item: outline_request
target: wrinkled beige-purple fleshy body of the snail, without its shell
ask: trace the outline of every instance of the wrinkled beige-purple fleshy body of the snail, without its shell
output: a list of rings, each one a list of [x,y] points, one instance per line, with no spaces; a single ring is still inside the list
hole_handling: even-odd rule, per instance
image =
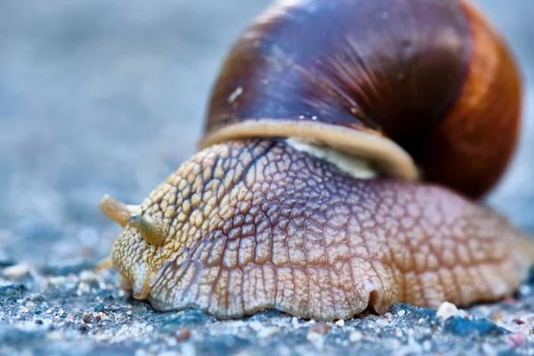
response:
[[[112,262],[161,311],[348,319],[494,300],[526,270],[498,214],[437,186],[354,178],[281,140],[201,150],[139,214],[166,226],[163,243],[126,223]]]

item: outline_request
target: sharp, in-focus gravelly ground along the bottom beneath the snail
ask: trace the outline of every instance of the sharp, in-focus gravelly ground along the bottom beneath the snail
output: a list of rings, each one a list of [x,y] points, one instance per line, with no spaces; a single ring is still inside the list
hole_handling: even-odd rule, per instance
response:
[[[216,320],[196,310],[155,312],[118,289],[114,271],[30,269],[0,279],[0,354],[530,355],[533,305],[534,285],[525,284],[513,298],[446,317],[401,303],[383,316],[328,323],[276,311]]]

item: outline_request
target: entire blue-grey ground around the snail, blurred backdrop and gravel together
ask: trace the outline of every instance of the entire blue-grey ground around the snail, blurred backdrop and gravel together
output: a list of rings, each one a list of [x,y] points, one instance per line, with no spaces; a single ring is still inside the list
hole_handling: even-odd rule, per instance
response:
[[[517,300],[469,310],[481,320],[443,321],[401,305],[328,328],[277,312],[224,322],[155,313],[122,295],[113,272],[87,271],[118,231],[97,208],[101,195],[138,203],[190,156],[224,53],[267,3],[2,4],[0,353],[533,352],[530,286]],[[525,76],[522,141],[488,203],[534,231],[534,2],[476,3],[504,31]],[[457,336],[470,328],[473,335]]]

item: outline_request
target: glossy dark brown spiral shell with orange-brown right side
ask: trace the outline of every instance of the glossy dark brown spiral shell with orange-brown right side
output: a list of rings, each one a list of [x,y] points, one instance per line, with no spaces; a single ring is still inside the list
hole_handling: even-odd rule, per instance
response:
[[[520,108],[512,54],[466,1],[281,1],[224,63],[202,147],[295,132],[280,124],[328,124],[390,138],[425,180],[479,198],[506,169]],[[318,132],[301,138],[340,139]],[[369,158],[391,168],[384,155]]]

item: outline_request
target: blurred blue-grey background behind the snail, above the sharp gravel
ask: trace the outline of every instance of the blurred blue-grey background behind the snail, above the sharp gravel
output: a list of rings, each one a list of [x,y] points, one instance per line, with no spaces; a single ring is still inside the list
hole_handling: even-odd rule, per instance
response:
[[[488,204],[534,231],[534,1],[478,0],[524,74]],[[189,158],[229,46],[269,0],[25,0],[0,11],[0,263],[109,253],[104,193],[139,203]]]

